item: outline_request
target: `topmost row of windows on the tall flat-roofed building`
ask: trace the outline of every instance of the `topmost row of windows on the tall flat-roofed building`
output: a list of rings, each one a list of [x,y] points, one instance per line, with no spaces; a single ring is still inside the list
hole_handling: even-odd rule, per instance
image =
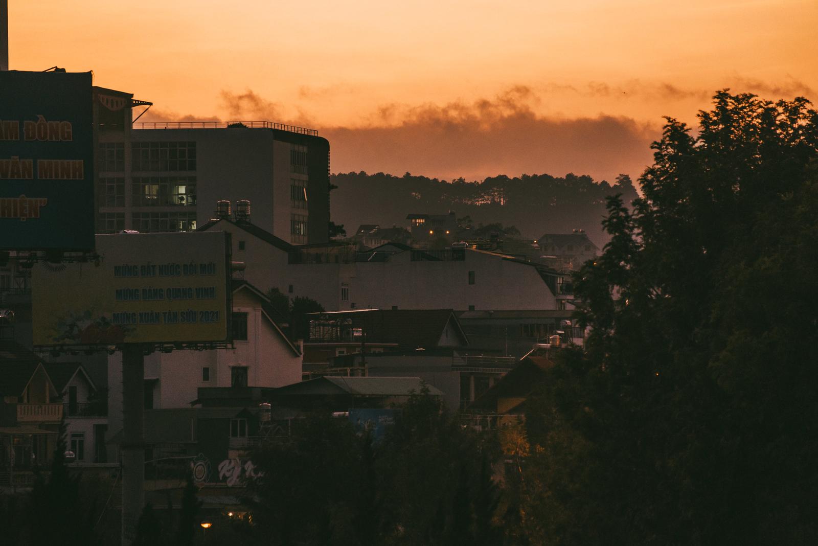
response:
[[[101,172],[125,170],[123,142],[101,142],[97,154]],[[195,171],[196,142],[132,142],[131,170],[133,171]]]

